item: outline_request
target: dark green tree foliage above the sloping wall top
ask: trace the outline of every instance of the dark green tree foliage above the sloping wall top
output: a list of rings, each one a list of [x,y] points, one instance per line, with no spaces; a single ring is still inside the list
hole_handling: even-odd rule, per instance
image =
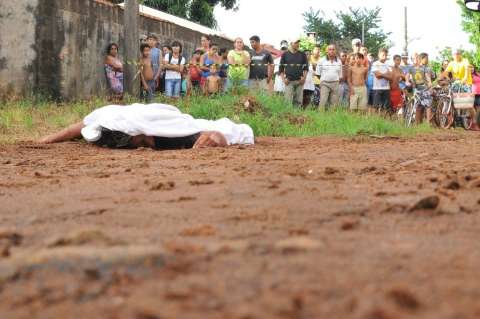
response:
[[[123,1],[113,0],[114,3]],[[210,28],[217,26],[213,13],[217,5],[227,10],[238,8],[237,0],[140,0],[140,3]]]

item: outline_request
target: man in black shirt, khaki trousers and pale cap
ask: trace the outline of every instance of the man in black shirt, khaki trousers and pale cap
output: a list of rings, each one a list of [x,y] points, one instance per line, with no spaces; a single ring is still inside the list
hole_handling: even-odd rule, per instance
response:
[[[299,48],[300,39],[293,40],[280,59],[279,69],[285,83],[285,99],[296,106],[303,104],[303,85],[308,72],[307,56]]]

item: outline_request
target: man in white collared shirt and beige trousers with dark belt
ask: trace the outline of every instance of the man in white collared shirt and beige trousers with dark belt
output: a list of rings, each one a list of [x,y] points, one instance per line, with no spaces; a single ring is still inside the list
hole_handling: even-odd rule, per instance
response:
[[[343,76],[342,63],[337,59],[337,48],[334,44],[327,47],[327,57],[317,65],[320,76],[320,108],[325,110],[327,102],[337,106],[339,100],[340,79]]]

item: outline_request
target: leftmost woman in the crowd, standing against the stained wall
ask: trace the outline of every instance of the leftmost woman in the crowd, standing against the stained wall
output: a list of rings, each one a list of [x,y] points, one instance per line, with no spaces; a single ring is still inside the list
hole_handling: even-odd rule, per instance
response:
[[[108,88],[111,98],[114,100],[123,99],[123,64],[118,59],[118,44],[110,43],[105,56],[105,76],[107,77]]]

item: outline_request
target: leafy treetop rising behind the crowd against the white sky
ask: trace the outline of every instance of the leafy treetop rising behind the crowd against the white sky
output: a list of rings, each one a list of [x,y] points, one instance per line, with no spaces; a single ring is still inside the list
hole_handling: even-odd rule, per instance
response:
[[[382,47],[391,47],[390,32],[381,29],[381,8],[352,8],[336,12],[336,19],[328,19],[321,10],[310,8],[303,14],[304,30],[316,32],[317,42],[322,46],[335,43],[343,49],[351,48],[351,41],[362,38],[362,22],[365,24],[365,45],[370,52],[376,53]]]

